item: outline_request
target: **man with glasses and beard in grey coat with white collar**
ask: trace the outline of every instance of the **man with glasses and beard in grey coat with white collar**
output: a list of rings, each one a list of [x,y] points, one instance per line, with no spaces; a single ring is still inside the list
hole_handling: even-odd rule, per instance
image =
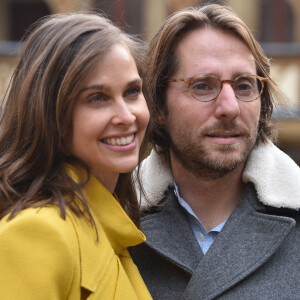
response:
[[[300,170],[272,140],[280,92],[228,8],[169,17],[150,43],[155,148],[140,168],[154,299],[300,299]]]

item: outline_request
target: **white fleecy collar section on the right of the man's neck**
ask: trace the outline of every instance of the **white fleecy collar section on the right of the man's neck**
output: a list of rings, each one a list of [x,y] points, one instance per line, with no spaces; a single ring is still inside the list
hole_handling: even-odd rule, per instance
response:
[[[271,142],[251,151],[243,181],[255,185],[259,201],[267,206],[300,209],[300,168]]]

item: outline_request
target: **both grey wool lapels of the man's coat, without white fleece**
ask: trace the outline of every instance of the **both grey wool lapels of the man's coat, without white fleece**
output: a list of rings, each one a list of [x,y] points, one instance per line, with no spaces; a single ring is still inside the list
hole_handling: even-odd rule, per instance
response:
[[[190,274],[182,299],[215,299],[270,260],[295,226],[292,218],[260,212],[264,206],[249,183],[204,256],[171,188],[164,203],[142,228],[148,246]]]

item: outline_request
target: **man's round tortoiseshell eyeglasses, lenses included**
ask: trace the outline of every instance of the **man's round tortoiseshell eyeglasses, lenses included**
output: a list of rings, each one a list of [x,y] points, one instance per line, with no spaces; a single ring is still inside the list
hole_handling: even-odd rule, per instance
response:
[[[221,93],[224,83],[229,83],[235,97],[244,102],[251,102],[260,97],[264,82],[268,78],[257,75],[240,75],[233,80],[220,80],[215,76],[199,75],[192,78],[169,79],[168,82],[187,82],[193,98],[202,102],[215,100]]]

